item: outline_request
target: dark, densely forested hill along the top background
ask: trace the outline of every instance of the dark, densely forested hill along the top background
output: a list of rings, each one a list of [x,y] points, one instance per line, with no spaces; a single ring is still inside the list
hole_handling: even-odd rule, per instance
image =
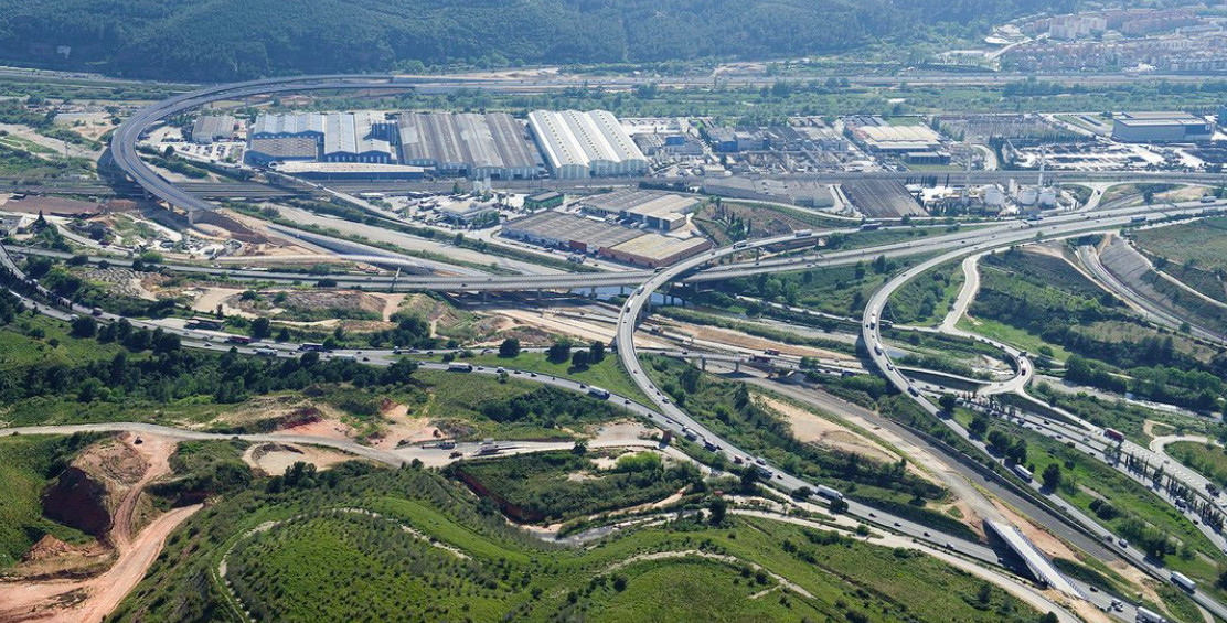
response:
[[[1075,0],[0,0],[0,63],[225,81],[480,65],[767,59]],[[61,47],[70,47],[65,59]]]

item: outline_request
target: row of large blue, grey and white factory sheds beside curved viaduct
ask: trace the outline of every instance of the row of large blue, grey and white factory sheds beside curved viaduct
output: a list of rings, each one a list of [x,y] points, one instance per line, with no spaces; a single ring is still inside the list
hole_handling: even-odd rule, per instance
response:
[[[234,125],[231,117],[229,128]],[[202,117],[193,139],[221,136],[223,118]],[[209,139],[206,139],[209,136]],[[229,136],[229,130],[225,134]],[[648,161],[611,113],[286,113],[261,114],[248,132],[247,161],[398,164],[437,177],[560,179],[642,175]],[[309,167],[297,167],[309,168]]]

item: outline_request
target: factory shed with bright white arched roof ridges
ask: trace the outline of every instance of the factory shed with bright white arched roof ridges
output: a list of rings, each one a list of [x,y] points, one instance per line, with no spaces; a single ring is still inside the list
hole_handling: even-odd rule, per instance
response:
[[[558,179],[642,175],[648,161],[617,118],[605,110],[536,110],[529,130]]]

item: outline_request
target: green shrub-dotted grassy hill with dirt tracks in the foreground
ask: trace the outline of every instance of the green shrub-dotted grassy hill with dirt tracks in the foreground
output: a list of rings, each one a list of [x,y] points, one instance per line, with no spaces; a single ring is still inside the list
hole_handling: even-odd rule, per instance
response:
[[[236,608],[313,622],[1039,619],[936,559],[764,519],[562,548],[418,470],[221,502],[171,536],[112,618],[239,621]]]

